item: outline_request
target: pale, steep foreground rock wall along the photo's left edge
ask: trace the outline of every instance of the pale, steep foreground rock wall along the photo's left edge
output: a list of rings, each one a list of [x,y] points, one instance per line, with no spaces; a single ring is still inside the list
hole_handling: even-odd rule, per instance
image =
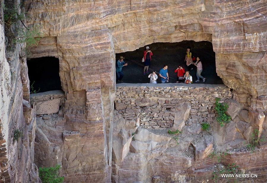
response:
[[[15,6],[19,3],[12,1]],[[0,1],[0,182],[39,182],[34,164],[35,110],[29,104],[29,80],[25,44],[13,43],[10,35],[21,23],[5,25]],[[20,8],[18,11],[21,11]],[[22,10],[23,11],[23,10]],[[8,35],[5,33],[9,33]],[[14,139],[15,130],[22,137]]]

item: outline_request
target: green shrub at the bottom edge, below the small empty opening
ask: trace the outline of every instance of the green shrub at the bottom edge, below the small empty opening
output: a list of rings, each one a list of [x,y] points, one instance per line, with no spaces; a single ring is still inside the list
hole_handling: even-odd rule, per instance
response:
[[[42,183],[62,183],[64,181],[64,177],[60,177],[58,175],[60,167],[60,165],[56,165],[55,167],[40,167],[39,177],[42,180]]]

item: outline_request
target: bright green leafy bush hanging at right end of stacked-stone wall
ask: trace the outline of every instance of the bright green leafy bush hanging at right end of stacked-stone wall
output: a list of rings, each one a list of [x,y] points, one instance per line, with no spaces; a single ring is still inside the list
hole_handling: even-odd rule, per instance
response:
[[[220,98],[216,98],[215,100],[216,100],[215,110],[218,113],[218,117],[216,119],[220,123],[220,126],[224,126],[224,124],[229,123],[229,120],[231,119],[230,116],[225,114],[229,106],[228,104],[225,103],[219,103]]]

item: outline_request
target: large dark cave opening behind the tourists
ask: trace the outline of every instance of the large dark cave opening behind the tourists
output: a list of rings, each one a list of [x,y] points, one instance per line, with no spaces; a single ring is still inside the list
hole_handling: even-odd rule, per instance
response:
[[[145,47],[149,46],[150,50],[153,52],[151,58],[148,73],[143,74],[144,62],[142,62],[143,53]],[[148,75],[153,71],[157,72],[158,79],[157,83],[161,83],[159,77],[159,70],[163,68],[163,65],[168,65],[169,83],[176,83],[177,73],[174,70],[177,69],[179,65],[188,71],[185,60],[185,54],[187,47],[190,46],[190,52],[193,53],[194,57],[200,57],[203,71],[201,76],[206,78],[205,84],[223,84],[222,79],[216,73],[215,65],[215,52],[213,51],[212,43],[209,41],[181,41],[176,43],[152,43],[145,45],[135,51],[117,53],[116,62],[119,60],[120,56],[125,57],[124,61],[128,63],[127,66],[123,67],[123,83],[149,83],[150,79]],[[194,61],[196,62],[196,60]],[[195,84],[197,80],[197,68],[192,65],[193,70],[190,70],[190,75],[193,78],[193,83]],[[117,83],[120,83],[118,81]],[[203,80],[200,79],[200,82]]]

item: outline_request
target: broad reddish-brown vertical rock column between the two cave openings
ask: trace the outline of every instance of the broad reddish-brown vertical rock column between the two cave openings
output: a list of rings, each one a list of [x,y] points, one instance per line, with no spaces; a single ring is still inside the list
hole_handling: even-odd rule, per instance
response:
[[[112,37],[108,29],[66,33],[57,37],[57,44],[66,93],[65,181],[110,181],[115,88]]]

